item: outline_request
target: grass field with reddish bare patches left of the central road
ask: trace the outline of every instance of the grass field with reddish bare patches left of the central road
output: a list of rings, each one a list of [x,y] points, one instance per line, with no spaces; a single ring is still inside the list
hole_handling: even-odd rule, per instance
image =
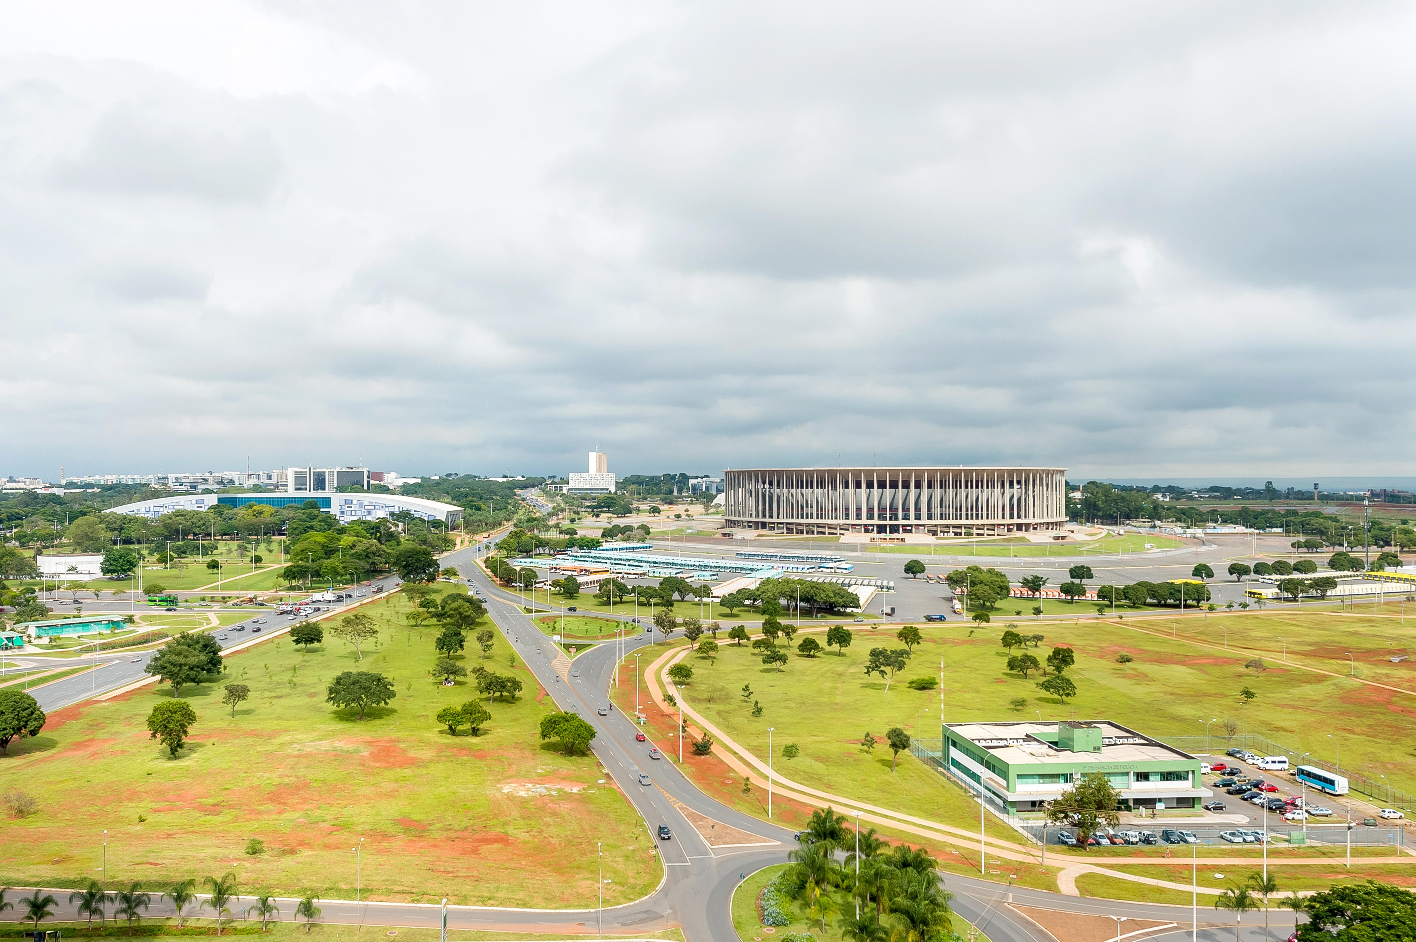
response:
[[[435,714],[476,693],[429,678],[438,627],[406,624],[408,603],[389,598],[362,608],[381,632],[361,663],[333,639],[232,655],[224,682],[251,686],[235,719],[219,686],[184,687],[198,721],[176,760],[144,728],[171,699],[166,686],[59,710],[38,737],[11,743],[0,791],[30,791],[40,805],[6,823],[0,884],[88,880],[106,829],[110,885],[235,868],[246,892],[351,898],[362,837],[362,891],[374,900],[590,905],[596,842],[613,880],[606,904],[650,891],[661,873],[653,839],[593,758],[539,741],[552,707],[500,634],[489,669],[518,676],[523,696],[491,704],[481,735],[453,738]],[[324,703],[329,682],[358,669],[388,675],[398,692],[364,721]],[[244,853],[251,839],[265,853]]]

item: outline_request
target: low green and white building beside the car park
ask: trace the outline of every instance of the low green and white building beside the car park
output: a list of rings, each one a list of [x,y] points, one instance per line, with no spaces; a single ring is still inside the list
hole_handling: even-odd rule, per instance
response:
[[[1100,772],[1123,809],[1195,808],[1199,760],[1107,720],[946,723],[944,768],[1008,815],[1039,810],[1075,781]]]

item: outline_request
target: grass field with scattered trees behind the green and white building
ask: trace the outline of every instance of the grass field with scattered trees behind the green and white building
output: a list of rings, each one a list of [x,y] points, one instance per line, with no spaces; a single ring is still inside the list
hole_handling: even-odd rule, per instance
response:
[[[756,652],[735,645],[722,645],[716,663],[691,658],[695,675],[688,702],[759,757],[767,750],[766,727],[775,726],[779,752],[789,743],[800,747],[799,758],[777,761],[789,778],[959,826],[969,826],[977,809],[961,792],[905,755],[899,771],[889,774],[888,752],[882,757],[882,748],[877,747],[875,755],[867,755],[860,748],[867,730],[884,740],[884,731],[895,726],[923,738],[939,738],[940,692],[916,692],[905,682],[939,676],[940,662],[946,721],[1075,716],[1109,719],[1150,735],[1197,735],[1205,731],[1205,720],[1235,719],[1242,730],[1311,750],[1320,758],[1335,758],[1340,740],[1344,768],[1382,774],[1396,788],[1416,789],[1416,752],[1391,748],[1392,723],[1416,716],[1416,697],[1344,676],[1297,670],[1267,656],[1279,648],[1276,635],[1281,634],[1289,642],[1290,662],[1331,669],[1337,662],[1334,652],[1341,656],[1340,652],[1351,651],[1369,676],[1416,690],[1416,665],[1383,661],[1393,642],[1406,646],[1405,639],[1392,636],[1398,634],[1395,620],[1245,612],[1211,617],[1208,622],[1175,621],[1178,634],[1204,631],[1206,641],[1221,631],[1218,622],[1225,621],[1235,644],[1243,638],[1253,646],[1226,653],[1184,636],[1170,638],[1165,636],[1170,620],[1124,627],[1086,621],[1044,624],[1038,628],[1046,635],[1037,651],[1039,661],[1052,645],[1076,652],[1069,676],[1079,693],[1063,704],[1037,689],[1037,675],[1024,680],[1007,672],[1008,652],[997,644],[1005,627],[1001,622],[983,629],[960,622],[920,627],[925,642],[888,692],[878,676],[865,676],[864,663],[869,648],[899,646],[899,642],[891,629],[858,628],[844,656],[833,651],[804,658],[793,651],[782,672],[763,668]],[[1020,624],[1020,629],[1027,631],[1027,625]],[[797,635],[797,644],[803,636]],[[1134,661],[1120,665],[1116,662],[1120,653]],[[1266,669],[1262,673],[1246,669],[1245,663],[1260,653]],[[743,683],[752,686],[753,699],[765,707],[760,719],[749,716],[752,702],[739,696]],[[1238,696],[1245,686],[1257,693],[1247,706]],[[1014,699],[1024,703],[1014,706]],[[1214,744],[1216,750],[1225,748],[1223,737],[1216,735]]]

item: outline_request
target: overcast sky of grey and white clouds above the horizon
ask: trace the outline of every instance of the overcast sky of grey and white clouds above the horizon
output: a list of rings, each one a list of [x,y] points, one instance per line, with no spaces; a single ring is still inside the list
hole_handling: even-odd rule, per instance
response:
[[[1416,8],[0,20],[0,474],[1409,472]]]

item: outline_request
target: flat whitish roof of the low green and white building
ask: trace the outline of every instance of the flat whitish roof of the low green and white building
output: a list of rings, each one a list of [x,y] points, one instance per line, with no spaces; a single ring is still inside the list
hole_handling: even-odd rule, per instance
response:
[[[1116,762],[1164,762],[1194,758],[1188,752],[1106,720],[1045,723],[1025,720],[1020,723],[946,723],[946,726],[1010,765],[1049,762],[1112,765]],[[1065,733],[1063,726],[1070,726],[1073,730],[1100,731],[1100,750],[1073,751],[1059,747],[1058,738]],[[1095,733],[1092,735],[1095,737]]]

